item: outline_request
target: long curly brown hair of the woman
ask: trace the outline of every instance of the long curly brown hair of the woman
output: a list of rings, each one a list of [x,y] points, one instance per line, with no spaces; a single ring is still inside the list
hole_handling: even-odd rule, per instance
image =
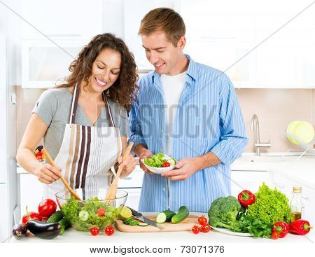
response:
[[[71,74],[66,78],[67,83],[57,85],[56,88],[70,88],[76,84],[81,85],[83,82],[84,89],[92,73],[92,64],[104,49],[115,50],[121,55],[120,74],[115,83],[105,90],[106,96],[130,112],[139,90],[137,65],[134,55],[127,48],[125,42],[110,33],[94,36],[90,43],[83,47],[76,60],[70,64]]]

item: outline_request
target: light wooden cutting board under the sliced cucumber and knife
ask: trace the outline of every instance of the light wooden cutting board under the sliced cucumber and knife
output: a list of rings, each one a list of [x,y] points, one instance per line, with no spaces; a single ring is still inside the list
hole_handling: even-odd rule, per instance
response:
[[[146,218],[150,218],[155,221],[156,215],[145,215]],[[125,225],[123,221],[116,221],[116,228],[121,232],[176,232],[176,231],[190,231],[194,225],[198,225],[198,217],[195,215],[189,215],[181,223],[173,224],[171,222],[161,223],[164,229],[155,228],[152,225],[141,227],[139,225]]]

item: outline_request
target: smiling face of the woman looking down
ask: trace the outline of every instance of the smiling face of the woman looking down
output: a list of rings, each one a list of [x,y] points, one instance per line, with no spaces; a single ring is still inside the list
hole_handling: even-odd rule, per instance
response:
[[[92,64],[89,88],[94,92],[103,92],[111,87],[120,73],[121,55],[119,52],[106,48],[97,55]]]

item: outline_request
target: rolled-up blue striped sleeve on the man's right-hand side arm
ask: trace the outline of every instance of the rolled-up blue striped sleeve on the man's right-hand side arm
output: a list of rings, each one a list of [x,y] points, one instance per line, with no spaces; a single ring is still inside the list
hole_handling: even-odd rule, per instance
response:
[[[241,157],[247,143],[246,127],[232,82],[226,76],[220,100],[220,141],[211,151],[223,165]]]

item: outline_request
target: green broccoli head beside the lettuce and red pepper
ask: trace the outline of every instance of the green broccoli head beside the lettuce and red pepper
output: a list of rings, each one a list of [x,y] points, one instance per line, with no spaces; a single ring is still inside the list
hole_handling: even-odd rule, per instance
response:
[[[240,209],[241,204],[234,196],[220,197],[212,202],[208,211],[209,224],[237,231],[239,223],[236,218]]]

